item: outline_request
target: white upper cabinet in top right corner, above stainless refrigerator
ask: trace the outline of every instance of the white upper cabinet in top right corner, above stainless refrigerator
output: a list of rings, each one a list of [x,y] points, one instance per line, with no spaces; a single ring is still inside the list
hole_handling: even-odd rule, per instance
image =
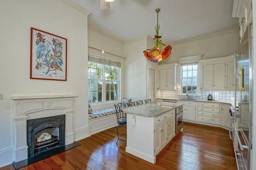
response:
[[[234,0],[232,17],[239,18],[241,42],[246,27],[252,22],[252,0]]]

